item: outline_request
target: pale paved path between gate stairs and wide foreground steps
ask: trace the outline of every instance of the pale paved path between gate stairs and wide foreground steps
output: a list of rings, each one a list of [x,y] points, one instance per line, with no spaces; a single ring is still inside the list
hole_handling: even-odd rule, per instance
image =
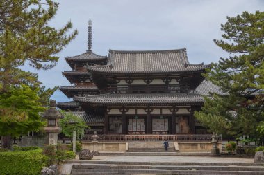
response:
[[[92,160],[122,162],[254,163],[253,158],[211,156],[94,156]]]

